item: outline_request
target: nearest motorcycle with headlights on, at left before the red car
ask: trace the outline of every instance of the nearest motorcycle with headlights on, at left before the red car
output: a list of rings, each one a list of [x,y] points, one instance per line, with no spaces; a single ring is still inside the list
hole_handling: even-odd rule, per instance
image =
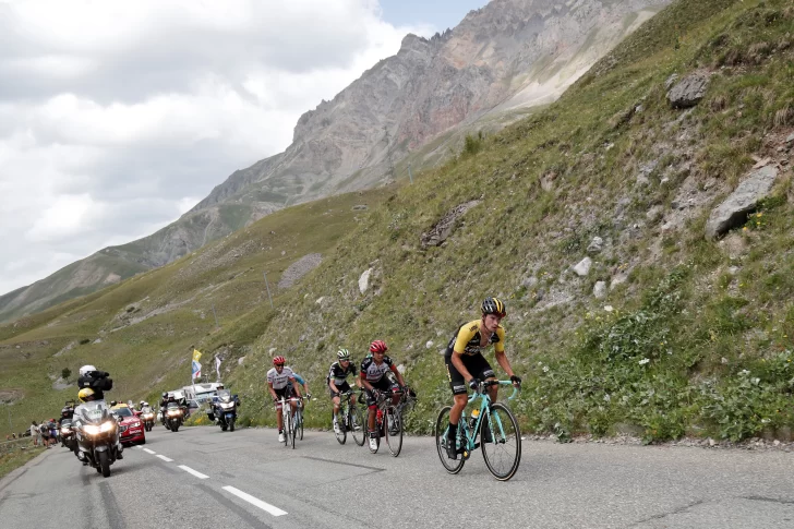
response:
[[[110,466],[116,462],[119,425],[116,417],[104,405],[84,405],[77,420],[77,450],[83,458],[105,478],[110,477]]]

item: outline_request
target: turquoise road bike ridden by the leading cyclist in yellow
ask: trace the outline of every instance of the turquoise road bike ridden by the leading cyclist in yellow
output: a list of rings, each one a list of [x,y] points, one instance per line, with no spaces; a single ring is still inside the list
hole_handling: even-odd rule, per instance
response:
[[[515,476],[521,462],[521,432],[518,429],[513,412],[502,402],[491,402],[486,389],[491,386],[508,386],[510,381],[481,382],[477,390],[469,397],[469,402],[480,399],[479,408],[474,408],[471,418],[466,412],[458,421],[458,435],[456,438],[457,459],[447,457],[446,447],[449,440],[449,411],[452,406],[445,406],[438,412],[435,421],[435,446],[438,450],[441,464],[449,473],[458,473],[464,468],[471,453],[482,448],[482,457],[491,473],[500,481],[507,481]],[[518,387],[513,388],[513,400],[518,395]],[[479,442],[478,442],[479,436]]]

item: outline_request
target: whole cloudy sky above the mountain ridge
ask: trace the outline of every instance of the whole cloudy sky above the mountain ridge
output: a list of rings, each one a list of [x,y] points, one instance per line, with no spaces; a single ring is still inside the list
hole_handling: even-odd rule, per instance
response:
[[[0,0],[0,293],[177,219],[486,0]]]

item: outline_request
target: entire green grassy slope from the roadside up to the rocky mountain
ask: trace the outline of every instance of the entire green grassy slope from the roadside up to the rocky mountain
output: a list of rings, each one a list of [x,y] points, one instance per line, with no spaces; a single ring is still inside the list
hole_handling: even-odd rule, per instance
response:
[[[420,394],[409,425],[429,432],[450,400],[438,352],[495,294],[507,300],[508,356],[525,378],[514,409],[526,429],[561,440],[621,431],[647,441],[790,436],[793,25],[792,0],[676,1],[557,103],[500,134],[472,137],[413,185],[382,191],[382,205],[358,224],[348,219],[333,241],[317,235],[328,226],[301,209],[310,206],[280,212],[277,232],[291,230],[296,243],[325,241],[329,252],[275,311],[261,302],[254,262],[282,269],[286,261],[244,254],[228,266],[202,263],[246,244],[276,248],[265,227],[276,215],[86,302],[23,321],[24,333],[0,328],[0,387],[40,388],[19,405],[38,410],[60,399],[48,372],[67,359],[74,366],[92,360],[118,372],[120,394],[154,395],[187,380],[185,352],[198,344],[232,364],[245,357],[228,377],[248,402],[243,422],[272,423],[262,397],[273,354],[287,356],[324,395],[317,387],[336,349],[360,359],[381,338]],[[710,75],[706,97],[693,110],[671,108],[666,81],[695,71]],[[711,209],[763,158],[780,169],[772,196],[744,228],[707,240]],[[422,247],[423,233],[473,200],[446,242]],[[601,250],[588,251],[596,237]],[[310,251],[304,244],[294,257]],[[572,266],[586,255],[592,267],[580,277]],[[599,281],[604,299],[593,294]],[[220,332],[213,332],[212,302]],[[139,310],[164,306],[167,317],[123,326]],[[52,358],[95,337],[103,344]],[[29,348],[26,361],[16,345]],[[324,424],[328,409],[324,399],[309,419]]]

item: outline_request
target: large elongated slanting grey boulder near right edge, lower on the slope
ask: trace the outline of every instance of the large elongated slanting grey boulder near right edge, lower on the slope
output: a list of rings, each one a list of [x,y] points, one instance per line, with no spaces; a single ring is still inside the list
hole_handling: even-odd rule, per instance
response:
[[[773,166],[761,167],[750,172],[725,201],[717,206],[706,223],[706,238],[715,239],[731,228],[742,226],[747,214],[758,207],[758,203],[767,197],[778,178],[778,169]]]

